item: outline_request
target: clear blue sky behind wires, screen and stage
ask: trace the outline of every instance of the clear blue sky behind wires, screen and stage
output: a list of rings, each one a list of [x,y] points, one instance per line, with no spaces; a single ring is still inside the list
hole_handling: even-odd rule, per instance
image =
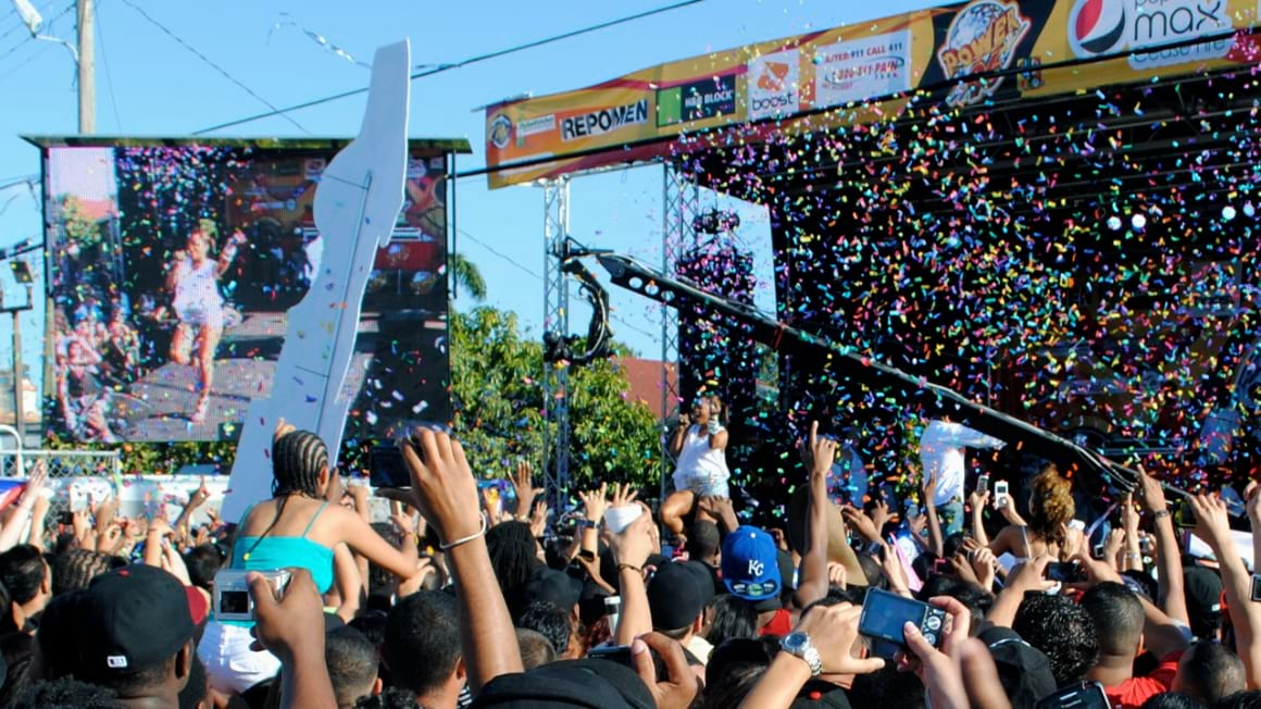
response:
[[[72,0],[33,0],[53,21],[44,32],[73,40]],[[368,71],[313,42],[303,30],[371,62],[377,45],[412,42],[415,64],[451,63],[521,43],[668,5],[658,1],[538,4],[372,0],[227,0],[158,3],[97,0],[97,132],[182,136],[267,110],[262,100],[289,106],[366,86]],[[885,0],[706,0],[629,24],[528,49],[412,82],[410,132],[415,138],[468,138],[474,154],[462,169],[484,164],[483,111],[478,106],[522,92],[545,95],[579,88],[657,63],[798,34],[861,24],[941,3]],[[245,85],[223,76],[135,8],[161,23]],[[74,66],[52,42],[37,42],[19,26],[9,0],[0,0],[0,185],[38,175],[39,153],[18,136],[77,132]],[[272,117],[218,136],[347,136],[357,129],[363,98],[352,97],[296,111],[299,125]],[[300,126],[300,127],[299,127]],[[304,132],[304,130],[306,132]],[[661,259],[661,168],[588,175],[571,188],[571,231],[590,246],[613,249],[651,262]],[[702,206],[714,204],[712,198]],[[758,302],[769,308],[769,226],[755,208],[741,208],[740,238],[754,250],[762,285]],[[487,303],[517,312],[533,337],[542,319],[542,193],[517,187],[491,192],[484,178],[460,180],[459,250],[489,285]],[[0,189],[0,247],[40,238],[40,212],[24,187]],[[42,271],[42,269],[37,269]],[[40,274],[42,275],[42,274]],[[603,274],[599,274],[603,276]],[[0,272],[6,299],[20,299]],[[643,299],[615,286],[615,337],[646,357],[660,357],[660,314]],[[11,300],[10,300],[11,302]],[[474,305],[467,296],[460,309]],[[574,331],[586,313],[575,309]],[[580,322],[578,322],[580,320]],[[43,309],[23,318],[26,362],[38,361]],[[11,329],[0,322],[0,368],[10,366]]]

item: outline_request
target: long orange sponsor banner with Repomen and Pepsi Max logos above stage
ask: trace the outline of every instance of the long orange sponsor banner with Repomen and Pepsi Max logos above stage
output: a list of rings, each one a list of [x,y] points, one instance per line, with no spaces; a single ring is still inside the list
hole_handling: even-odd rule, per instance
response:
[[[970,0],[762,42],[489,106],[489,183],[651,159],[724,126],[888,119],[913,92],[957,108],[1255,64],[1261,40],[1236,30],[1257,18],[1258,0]]]

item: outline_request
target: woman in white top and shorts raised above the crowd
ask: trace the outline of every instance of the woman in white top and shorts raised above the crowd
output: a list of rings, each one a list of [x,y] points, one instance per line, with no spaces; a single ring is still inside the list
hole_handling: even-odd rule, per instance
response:
[[[683,517],[696,513],[714,524],[721,520],[709,510],[699,508],[701,497],[730,498],[726,467],[729,434],[723,426],[723,400],[701,396],[692,404],[691,416],[681,414],[678,426],[670,438],[670,454],[675,457],[675,492],[661,506],[661,522],[678,539],[683,536]]]

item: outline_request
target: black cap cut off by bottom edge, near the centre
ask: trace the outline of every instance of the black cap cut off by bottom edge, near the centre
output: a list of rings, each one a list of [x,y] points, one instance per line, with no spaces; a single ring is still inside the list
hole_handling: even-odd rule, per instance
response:
[[[473,709],[654,709],[634,670],[609,660],[562,660],[528,672],[499,675]]]

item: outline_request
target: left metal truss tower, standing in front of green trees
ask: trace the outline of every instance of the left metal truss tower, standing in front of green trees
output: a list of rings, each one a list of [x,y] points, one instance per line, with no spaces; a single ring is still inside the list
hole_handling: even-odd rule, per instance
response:
[[[569,333],[569,279],[561,256],[569,238],[569,177],[543,183],[543,333]],[[543,362],[543,486],[557,510],[569,486],[569,363]]]

